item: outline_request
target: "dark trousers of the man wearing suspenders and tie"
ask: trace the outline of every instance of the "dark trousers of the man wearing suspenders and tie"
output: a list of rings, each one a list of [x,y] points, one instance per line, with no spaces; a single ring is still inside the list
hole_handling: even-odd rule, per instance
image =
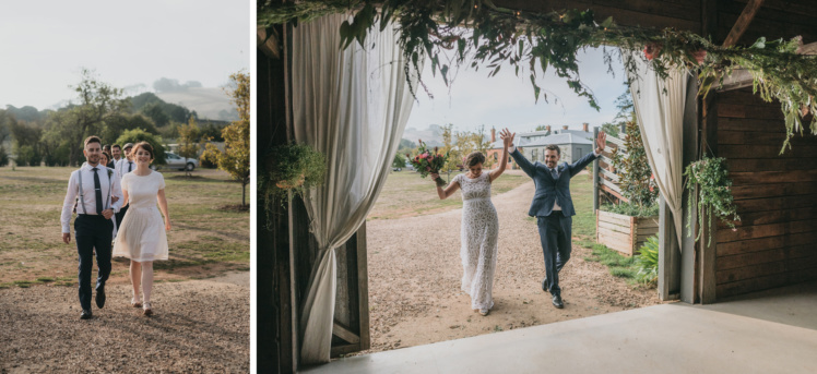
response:
[[[91,270],[94,267],[94,249],[96,249],[96,289],[105,287],[110,275],[110,242],[114,222],[103,216],[79,215],[74,220],[76,252],[80,255],[80,305],[91,310]]]

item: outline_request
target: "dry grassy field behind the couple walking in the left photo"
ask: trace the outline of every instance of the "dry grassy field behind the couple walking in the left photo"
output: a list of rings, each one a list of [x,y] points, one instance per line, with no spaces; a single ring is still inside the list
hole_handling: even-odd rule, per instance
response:
[[[76,246],[62,242],[60,212],[74,168],[0,168],[0,287],[74,285]],[[170,260],[156,279],[206,278],[249,269],[249,214],[224,208],[241,202],[241,185],[218,170],[164,171],[173,222]],[[73,220],[71,224],[73,232]],[[128,260],[114,258],[111,278],[127,281]]]

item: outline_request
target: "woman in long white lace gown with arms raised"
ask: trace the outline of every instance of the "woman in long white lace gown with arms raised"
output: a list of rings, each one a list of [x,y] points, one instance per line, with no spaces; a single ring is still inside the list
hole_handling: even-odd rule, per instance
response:
[[[500,132],[505,150],[499,166],[483,172],[485,156],[474,152],[465,159],[469,172],[458,174],[443,190],[437,185],[437,194],[445,200],[457,189],[462,189],[462,226],[460,229],[460,257],[462,258],[462,290],[471,295],[471,309],[488,315],[494,307],[494,270],[497,264],[499,218],[490,202],[490,183],[505,171],[508,164],[508,147],[513,134],[508,129]],[[439,174],[431,173],[431,179]]]

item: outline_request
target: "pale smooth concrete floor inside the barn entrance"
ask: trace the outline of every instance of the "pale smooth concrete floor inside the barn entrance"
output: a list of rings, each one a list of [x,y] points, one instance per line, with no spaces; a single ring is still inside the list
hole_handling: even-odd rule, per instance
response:
[[[817,373],[817,282],[398,349],[303,373]]]

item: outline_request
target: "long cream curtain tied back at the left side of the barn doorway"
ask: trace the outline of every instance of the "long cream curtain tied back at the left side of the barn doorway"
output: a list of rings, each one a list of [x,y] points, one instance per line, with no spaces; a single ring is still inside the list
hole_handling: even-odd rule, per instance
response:
[[[329,362],[335,305],[334,250],[365,221],[386,182],[414,97],[394,29],[375,27],[367,48],[340,46],[348,15],[299,24],[293,32],[295,141],[327,157],[322,186],[307,192],[310,230],[320,246],[300,316],[301,362]]]

